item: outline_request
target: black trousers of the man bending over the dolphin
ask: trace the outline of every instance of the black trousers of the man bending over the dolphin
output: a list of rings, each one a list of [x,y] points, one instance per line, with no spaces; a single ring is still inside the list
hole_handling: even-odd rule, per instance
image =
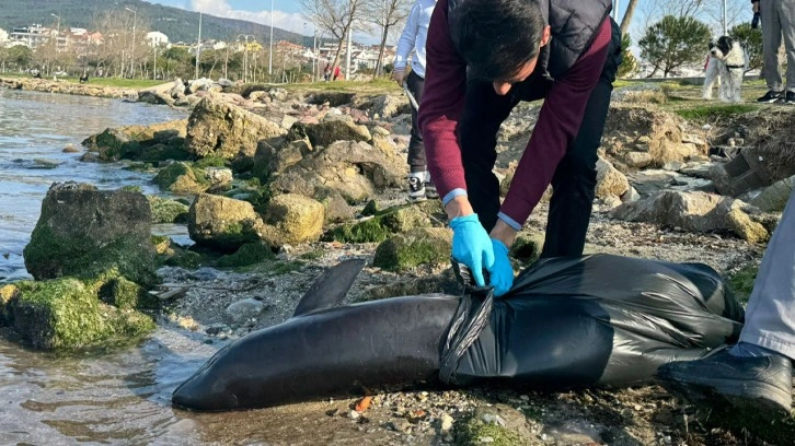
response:
[[[580,256],[585,247],[596,188],[597,149],[601,144],[610,96],[619,64],[621,64],[621,33],[612,23],[608,59],[597,85],[588,98],[577,137],[566,149],[552,178],[552,200],[546,221],[542,257]],[[500,96],[491,82],[470,80],[466,84],[465,108],[458,127],[461,157],[469,201],[481,223],[491,231],[499,212],[499,181],[492,169],[497,160],[497,131],[510,110],[520,101],[538,101],[549,90],[532,89],[521,83]],[[514,178],[521,181],[521,178]]]

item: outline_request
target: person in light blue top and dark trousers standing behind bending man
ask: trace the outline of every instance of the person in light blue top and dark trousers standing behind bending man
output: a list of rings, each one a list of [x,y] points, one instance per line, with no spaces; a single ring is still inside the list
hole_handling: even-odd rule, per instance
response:
[[[406,19],[406,26],[403,28],[398,50],[394,58],[394,70],[392,78],[398,85],[408,90],[417,104],[423,97],[425,86],[425,39],[428,35],[428,24],[436,8],[436,0],[416,0],[412,11]],[[412,70],[406,73],[408,55],[412,56]],[[419,132],[417,115],[419,110],[412,105],[412,138],[408,141],[408,200],[422,201],[426,198],[439,198],[436,186],[430,180],[425,163],[425,145],[423,136]]]

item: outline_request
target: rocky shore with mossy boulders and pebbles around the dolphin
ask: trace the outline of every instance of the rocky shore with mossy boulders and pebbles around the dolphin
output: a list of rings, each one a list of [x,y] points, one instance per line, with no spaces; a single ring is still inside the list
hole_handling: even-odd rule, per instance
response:
[[[25,80],[22,87],[59,84]],[[62,286],[79,279],[82,285],[68,284],[83,287],[81,310],[94,312],[91,324],[106,329],[79,326],[91,336],[71,336],[72,309],[61,312],[64,320],[56,318],[53,330],[32,334],[25,327],[42,319],[30,315],[55,305],[32,284],[0,289],[0,325],[39,348],[79,350],[116,342],[120,333],[137,339],[151,329],[140,320],[151,318],[221,345],[288,318],[314,278],[347,258],[368,259],[347,302],[458,292],[448,265],[451,234],[439,203],[408,204],[402,190],[410,129],[405,97],[180,85],[108,94],[189,107],[187,120],[107,129],[83,143],[85,162],[123,162],[125,168],[157,173],[163,195],[145,199],[136,190],[54,187],[26,248],[34,283]],[[83,94],[78,91],[57,92]],[[684,119],[662,106],[670,96],[646,86],[615,92],[586,251],[707,263],[747,297],[795,183],[795,144],[786,138],[795,113],[754,108],[722,115],[717,107],[704,118]],[[495,171],[503,191],[538,110],[521,104],[500,129]],[[137,211],[125,214],[130,203]],[[511,250],[517,270],[538,258],[545,220],[542,202]],[[151,224],[165,222],[185,224],[194,245],[165,237],[141,242]],[[54,237],[74,240],[77,230],[83,233],[78,246],[27,255],[66,246]],[[104,242],[92,248],[92,240]],[[81,259],[99,259],[105,242],[118,250],[88,268]],[[132,248],[139,246],[147,248]],[[102,318],[103,313],[111,316]],[[744,435],[655,386],[562,394],[427,389],[371,397],[301,404],[293,409],[295,422],[310,419],[369,444],[784,444],[782,435],[795,432],[776,425]]]

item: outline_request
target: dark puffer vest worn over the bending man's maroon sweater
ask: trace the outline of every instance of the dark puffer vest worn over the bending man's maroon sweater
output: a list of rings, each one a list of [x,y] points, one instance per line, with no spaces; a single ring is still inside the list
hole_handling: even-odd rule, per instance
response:
[[[466,0],[448,0],[448,20]],[[611,0],[528,0],[539,3],[552,28],[552,40],[541,49],[535,73],[557,79],[590,46],[596,31],[612,10]]]

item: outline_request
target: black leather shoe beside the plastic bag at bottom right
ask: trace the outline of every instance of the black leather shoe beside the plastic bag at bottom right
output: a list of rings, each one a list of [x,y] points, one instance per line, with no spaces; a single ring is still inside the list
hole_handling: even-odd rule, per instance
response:
[[[701,360],[664,364],[655,378],[672,394],[714,409],[737,409],[768,420],[792,410],[792,361],[779,354],[746,357],[722,349]]]

